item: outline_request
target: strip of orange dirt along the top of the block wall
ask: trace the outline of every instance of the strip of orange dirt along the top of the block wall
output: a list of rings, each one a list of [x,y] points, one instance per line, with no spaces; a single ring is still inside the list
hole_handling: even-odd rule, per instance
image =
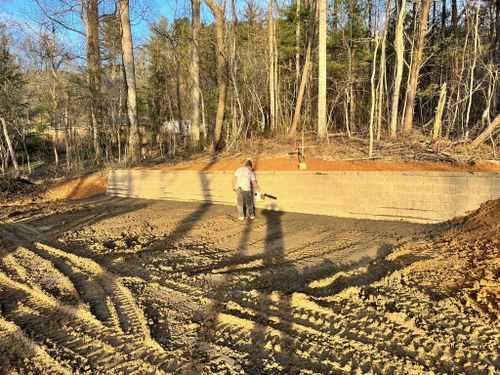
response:
[[[251,157],[250,157],[251,158]],[[256,171],[297,171],[299,160],[297,157],[259,159],[251,158]],[[210,161],[175,165],[158,165],[149,167],[138,167],[137,169],[153,170],[209,170],[226,171],[241,167],[245,159],[236,161]],[[307,159],[304,160],[307,170],[310,171],[447,171],[447,172],[500,172],[500,165],[493,163],[477,163],[475,165],[452,165],[446,163],[431,162],[389,162],[378,160],[352,160],[334,161]]]

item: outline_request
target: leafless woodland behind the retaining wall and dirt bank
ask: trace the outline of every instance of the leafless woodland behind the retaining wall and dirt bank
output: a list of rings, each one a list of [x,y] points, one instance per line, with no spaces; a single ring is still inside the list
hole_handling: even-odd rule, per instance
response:
[[[368,157],[381,140],[498,140],[498,1],[176,4],[184,14],[149,9],[135,45],[134,1],[33,0],[30,25],[0,20],[2,172],[259,137],[342,134],[368,140]]]

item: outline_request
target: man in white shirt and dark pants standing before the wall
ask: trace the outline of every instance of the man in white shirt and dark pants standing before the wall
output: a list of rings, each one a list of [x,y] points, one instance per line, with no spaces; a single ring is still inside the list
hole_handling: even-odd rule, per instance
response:
[[[260,191],[260,186],[252,172],[252,167],[252,161],[247,160],[243,167],[238,168],[236,172],[234,172],[233,190],[236,191],[238,220],[245,220],[245,209],[246,217],[250,220],[255,219],[252,187]]]

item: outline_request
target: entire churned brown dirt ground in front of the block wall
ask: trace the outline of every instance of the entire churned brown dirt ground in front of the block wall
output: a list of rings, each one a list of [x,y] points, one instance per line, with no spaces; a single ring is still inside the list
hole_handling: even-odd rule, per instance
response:
[[[8,206],[0,373],[498,373],[498,217],[500,201],[439,226]]]

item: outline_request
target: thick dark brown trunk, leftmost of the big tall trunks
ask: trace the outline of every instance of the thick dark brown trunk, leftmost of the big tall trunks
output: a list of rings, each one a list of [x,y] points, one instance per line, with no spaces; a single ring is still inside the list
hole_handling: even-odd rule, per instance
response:
[[[87,39],[87,68],[91,97],[94,157],[101,159],[102,100],[101,56],[99,52],[99,0],[81,0]]]

